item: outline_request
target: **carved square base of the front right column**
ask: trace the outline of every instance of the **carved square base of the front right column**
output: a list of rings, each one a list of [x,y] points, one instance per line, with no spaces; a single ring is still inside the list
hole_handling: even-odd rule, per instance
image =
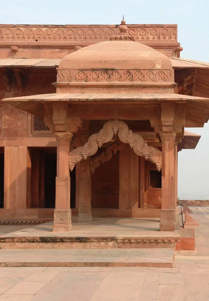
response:
[[[160,210],[160,231],[174,231],[175,230],[175,210],[161,209]]]

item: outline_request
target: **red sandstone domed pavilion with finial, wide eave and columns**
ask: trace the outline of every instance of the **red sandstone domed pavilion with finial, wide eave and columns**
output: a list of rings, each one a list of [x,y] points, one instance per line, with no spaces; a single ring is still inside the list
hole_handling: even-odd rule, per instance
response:
[[[109,41],[64,56],[53,85],[4,99],[56,137],[53,231],[72,229],[73,194],[79,222],[159,218],[160,231],[174,231],[177,148],[184,127],[207,122],[208,98],[178,94],[171,59],[134,41],[124,20]]]

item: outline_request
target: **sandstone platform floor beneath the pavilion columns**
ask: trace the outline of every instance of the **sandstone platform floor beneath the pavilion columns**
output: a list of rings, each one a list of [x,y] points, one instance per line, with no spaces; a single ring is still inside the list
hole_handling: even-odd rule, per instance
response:
[[[0,232],[0,237],[25,237],[25,236],[54,236],[54,237],[74,237],[74,236],[82,236],[82,237],[175,237],[179,236],[179,231],[168,231],[168,232],[160,232],[159,231],[159,219],[158,218],[101,218],[101,219],[93,219],[92,222],[89,223],[72,223],[72,231],[63,232],[63,233],[55,233],[52,232],[52,222],[44,223],[41,225],[33,225],[33,226],[25,226],[25,228],[20,228],[20,226],[4,226],[10,227],[10,231]],[[148,232],[148,233],[147,233]],[[81,235],[80,235],[81,234]]]

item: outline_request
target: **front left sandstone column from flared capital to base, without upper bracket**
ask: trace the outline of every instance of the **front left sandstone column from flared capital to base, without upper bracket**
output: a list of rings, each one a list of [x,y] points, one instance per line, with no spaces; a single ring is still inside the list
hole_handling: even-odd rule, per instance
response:
[[[71,132],[55,132],[57,140],[57,177],[53,219],[54,232],[67,232],[72,229],[68,168],[68,154],[72,135]]]

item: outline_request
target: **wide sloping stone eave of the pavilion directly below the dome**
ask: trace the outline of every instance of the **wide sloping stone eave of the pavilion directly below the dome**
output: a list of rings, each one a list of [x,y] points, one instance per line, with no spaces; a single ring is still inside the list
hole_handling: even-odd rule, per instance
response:
[[[2,100],[18,109],[43,118],[42,104],[53,102],[67,102],[73,107],[81,108],[82,105],[89,109],[92,105],[114,105],[118,109],[122,105],[130,105],[132,109],[138,104],[160,105],[162,102],[173,101],[175,103],[186,104],[185,127],[202,127],[209,117],[209,98],[188,96],[181,94],[114,94],[114,93],[53,93],[22,96],[14,98],[4,98]],[[129,106],[130,107],[130,106]],[[160,108],[160,107],[159,107]],[[89,112],[91,113],[91,112]],[[153,118],[150,116],[150,118]]]

